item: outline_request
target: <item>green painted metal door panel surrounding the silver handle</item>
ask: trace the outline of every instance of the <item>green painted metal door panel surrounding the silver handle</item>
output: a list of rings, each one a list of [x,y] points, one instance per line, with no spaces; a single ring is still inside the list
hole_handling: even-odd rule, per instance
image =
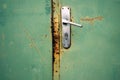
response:
[[[60,0],[71,7],[71,48],[62,49],[60,80],[120,80],[120,0]]]

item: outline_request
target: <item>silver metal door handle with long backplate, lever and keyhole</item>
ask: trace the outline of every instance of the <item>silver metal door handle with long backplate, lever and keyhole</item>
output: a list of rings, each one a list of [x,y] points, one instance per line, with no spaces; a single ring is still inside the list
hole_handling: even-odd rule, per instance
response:
[[[71,25],[82,28],[81,24],[71,22],[71,9],[67,6],[61,8],[62,21],[62,45],[65,49],[71,46]]]

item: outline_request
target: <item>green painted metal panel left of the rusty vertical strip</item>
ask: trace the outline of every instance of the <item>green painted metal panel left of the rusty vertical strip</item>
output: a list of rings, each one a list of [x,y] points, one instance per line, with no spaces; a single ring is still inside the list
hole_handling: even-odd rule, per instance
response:
[[[52,80],[50,0],[0,0],[0,80]]]

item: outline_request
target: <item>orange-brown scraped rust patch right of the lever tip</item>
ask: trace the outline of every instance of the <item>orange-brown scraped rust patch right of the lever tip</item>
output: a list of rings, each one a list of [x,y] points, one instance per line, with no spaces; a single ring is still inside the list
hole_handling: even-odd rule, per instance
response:
[[[95,21],[103,20],[103,17],[102,16],[97,16],[97,17],[93,17],[93,18],[86,17],[86,18],[81,18],[80,20],[84,21],[84,22],[89,22],[90,24],[93,24]]]

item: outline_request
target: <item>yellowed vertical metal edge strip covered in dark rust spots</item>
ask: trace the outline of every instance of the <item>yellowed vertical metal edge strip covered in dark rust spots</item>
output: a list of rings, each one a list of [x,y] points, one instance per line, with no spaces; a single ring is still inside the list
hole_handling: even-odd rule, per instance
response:
[[[53,43],[53,80],[60,79],[60,27],[59,27],[59,0],[51,0],[52,4],[52,43]]]

